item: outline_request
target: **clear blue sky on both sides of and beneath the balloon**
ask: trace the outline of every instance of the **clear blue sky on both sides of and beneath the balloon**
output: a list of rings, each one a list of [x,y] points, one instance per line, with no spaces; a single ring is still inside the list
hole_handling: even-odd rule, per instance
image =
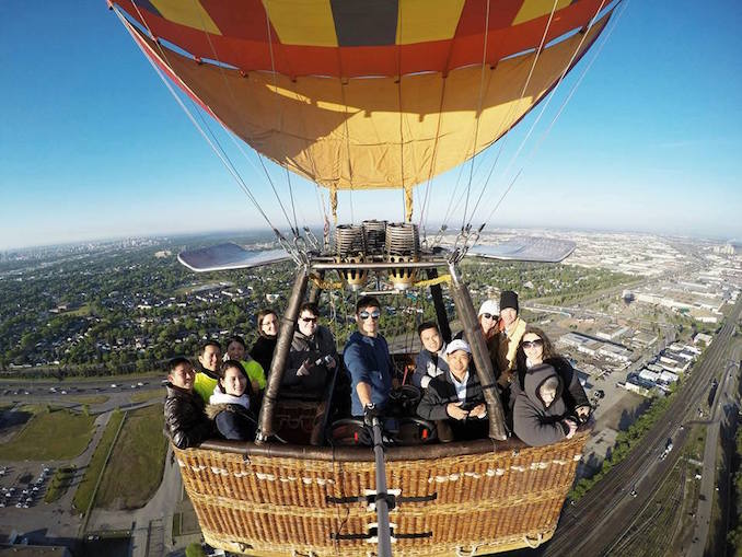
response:
[[[527,156],[591,54],[502,176],[534,117],[507,140],[483,205],[523,173],[489,225],[742,237],[740,27],[733,0],[629,0],[554,129]],[[263,224],[104,0],[0,2],[0,250]],[[282,227],[263,174],[240,167]],[[271,167],[286,192],[281,172]],[[430,222],[459,174],[433,183]],[[320,222],[314,186],[292,184],[299,223]],[[356,193],[350,205],[340,194],[341,222],[403,217],[396,192]]]

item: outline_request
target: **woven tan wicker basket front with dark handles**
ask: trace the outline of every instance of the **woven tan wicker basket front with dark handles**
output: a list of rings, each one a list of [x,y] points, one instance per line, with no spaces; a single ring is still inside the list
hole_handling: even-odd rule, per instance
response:
[[[588,437],[389,449],[394,554],[484,555],[550,538]],[[374,554],[370,449],[208,442],[174,451],[210,545],[255,556]]]

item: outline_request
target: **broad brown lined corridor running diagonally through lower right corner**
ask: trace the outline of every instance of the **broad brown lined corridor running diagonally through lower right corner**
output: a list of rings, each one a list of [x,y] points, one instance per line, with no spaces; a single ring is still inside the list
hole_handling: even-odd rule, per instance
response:
[[[693,368],[668,409],[666,419],[658,420],[627,459],[614,466],[580,501],[565,509],[556,534],[543,555],[605,555],[610,552],[680,457],[679,450],[671,451],[662,461],[659,454],[670,438],[676,448],[684,444],[689,428],[681,430],[680,426],[687,413],[695,413],[708,395],[711,379],[726,367],[728,344],[741,312],[742,298],[704,352],[703,361]],[[629,497],[635,486],[637,497]]]

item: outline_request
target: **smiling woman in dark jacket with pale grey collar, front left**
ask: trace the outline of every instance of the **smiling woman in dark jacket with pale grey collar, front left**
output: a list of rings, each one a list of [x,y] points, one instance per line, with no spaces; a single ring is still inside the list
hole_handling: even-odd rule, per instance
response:
[[[242,364],[227,360],[219,370],[219,382],[209,398],[206,414],[219,433],[232,441],[254,441],[257,420],[251,409],[250,380]]]

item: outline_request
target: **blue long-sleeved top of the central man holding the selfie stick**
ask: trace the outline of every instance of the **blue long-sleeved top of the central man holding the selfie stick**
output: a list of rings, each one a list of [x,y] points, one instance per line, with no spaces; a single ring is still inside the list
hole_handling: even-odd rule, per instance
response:
[[[381,335],[367,337],[356,332],[345,345],[343,360],[350,375],[351,414],[363,416],[363,406],[356,391],[361,382],[371,385],[371,402],[383,409],[392,390],[392,364],[386,339]]]

